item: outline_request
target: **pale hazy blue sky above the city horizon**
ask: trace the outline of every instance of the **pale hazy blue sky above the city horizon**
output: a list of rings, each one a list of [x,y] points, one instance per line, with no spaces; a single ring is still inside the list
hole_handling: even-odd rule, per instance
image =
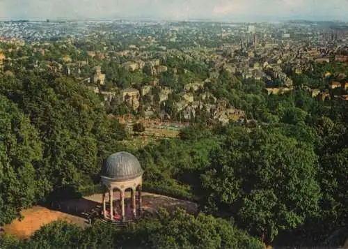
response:
[[[0,0],[0,19],[348,20],[348,0]]]

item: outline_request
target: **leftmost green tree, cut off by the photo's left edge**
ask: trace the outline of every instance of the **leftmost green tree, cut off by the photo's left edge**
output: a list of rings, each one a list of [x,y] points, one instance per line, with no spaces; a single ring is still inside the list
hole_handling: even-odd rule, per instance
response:
[[[42,144],[28,117],[0,95],[0,225],[40,196],[45,180],[35,171]]]

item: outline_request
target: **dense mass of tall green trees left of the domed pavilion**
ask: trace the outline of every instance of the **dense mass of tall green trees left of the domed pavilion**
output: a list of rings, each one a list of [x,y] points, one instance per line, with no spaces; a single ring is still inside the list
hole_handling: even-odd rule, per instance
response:
[[[0,224],[33,202],[97,183],[103,158],[126,137],[98,96],[71,79],[0,76],[0,94]]]

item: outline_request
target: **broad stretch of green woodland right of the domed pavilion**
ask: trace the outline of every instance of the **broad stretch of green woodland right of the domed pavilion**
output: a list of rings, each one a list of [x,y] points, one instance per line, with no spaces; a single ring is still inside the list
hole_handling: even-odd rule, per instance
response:
[[[322,243],[347,225],[347,133],[324,120],[267,129],[189,126],[180,139],[148,145],[138,155],[145,181],[181,188],[182,197],[193,193],[202,210],[235,218],[267,243],[290,231],[301,234],[296,243],[313,243],[315,231]]]

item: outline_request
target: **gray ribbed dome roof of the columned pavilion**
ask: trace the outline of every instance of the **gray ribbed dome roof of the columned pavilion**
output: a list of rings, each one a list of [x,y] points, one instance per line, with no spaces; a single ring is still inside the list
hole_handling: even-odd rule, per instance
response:
[[[131,153],[118,152],[107,158],[102,168],[102,176],[116,181],[127,181],[135,179],[143,174],[143,169]]]

